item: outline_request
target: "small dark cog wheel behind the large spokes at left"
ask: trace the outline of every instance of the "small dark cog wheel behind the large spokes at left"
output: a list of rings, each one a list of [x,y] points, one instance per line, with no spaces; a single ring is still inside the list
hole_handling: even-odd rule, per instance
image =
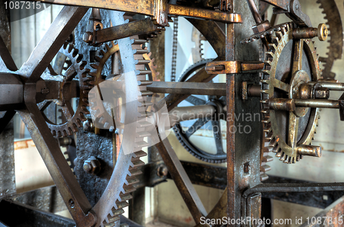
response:
[[[44,114],[45,121],[47,126],[52,131],[52,134],[56,137],[65,137],[71,136],[74,132],[78,132],[78,128],[83,126],[82,121],[85,121],[85,115],[89,114],[87,110],[88,106],[88,93],[92,88],[89,84],[91,77],[87,77],[89,69],[85,68],[87,62],[83,61],[83,56],[78,54],[78,49],[74,48],[73,45],[65,43],[61,47],[59,53],[62,53],[67,59],[71,62],[68,69],[65,70],[65,73],[62,77],[62,83],[60,88],[60,99],[46,100],[43,103],[39,104],[39,108],[43,112],[47,106],[54,102],[56,106],[61,107],[61,112],[63,113],[63,119],[65,122],[58,124],[52,122],[51,119],[48,119]],[[61,77],[60,77],[61,78]],[[70,84],[73,82],[78,82],[79,86],[79,101],[76,110],[72,108],[72,93]]]

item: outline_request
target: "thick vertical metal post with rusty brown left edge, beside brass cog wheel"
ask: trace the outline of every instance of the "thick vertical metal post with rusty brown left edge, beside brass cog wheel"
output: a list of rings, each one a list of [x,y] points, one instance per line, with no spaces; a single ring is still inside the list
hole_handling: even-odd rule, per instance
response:
[[[257,0],[254,1],[258,3]],[[232,13],[250,14],[246,0],[232,0]],[[226,25],[226,60],[259,60],[259,44],[239,45],[241,38],[250,36],[253,19],[242,24]],[[246,217],[246,200],[241,196],[245,188],[260,183],[260,134],[261,132],[259,98],[243,100],[243,82],[259,82],[259,73],[227,75],[227,216],[232,221],[228,226],[241,226],[238,219]],[[252,120],[243,116],[249,115]],[[254,117],[257,116],[257,117]],[[240,131],[241,127],[252,130]],[[244,168],[247,167],[247,168]],[[259,204],[258,204],[259,205]],[[259,217],[255,217],[259,218]]]

